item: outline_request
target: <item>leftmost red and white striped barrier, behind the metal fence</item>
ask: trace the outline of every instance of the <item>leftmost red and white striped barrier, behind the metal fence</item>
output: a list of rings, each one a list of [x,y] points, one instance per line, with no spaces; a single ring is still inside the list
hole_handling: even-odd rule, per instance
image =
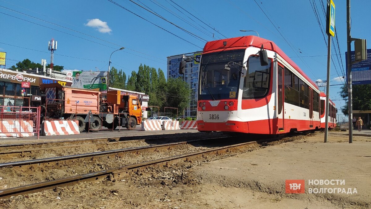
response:
[[[27,137],[34,135],[35,133],[33,133],[32,120],[13,120],[13,119],[0,120],[0,138]]]

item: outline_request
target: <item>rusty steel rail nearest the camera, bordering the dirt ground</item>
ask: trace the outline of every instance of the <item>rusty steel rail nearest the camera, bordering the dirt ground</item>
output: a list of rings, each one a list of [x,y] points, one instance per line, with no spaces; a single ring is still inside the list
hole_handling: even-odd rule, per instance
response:
[[[0,190],[0,198],[6,198],[6,197],[20,195],[20,194],[40,192],[46,189],[53,189],[56,186],[59,186],[59,187],[68,186],[68,185],[72,185],[72,184],[75,184],[81,181],[94,181],[94,180],[99,180],[99,179],[104,179],[104,178],[114,180],[115,178],[119,178],[120,176],[122,176],[122,174],[128,174],[130,171],[138,170],[139,168],[147,167],[150,165],[165,164],[165,166],[169,166],[168,162],[172,162],[172,161],[181,161],[181,160],[190,161],[190,159],[193,157],[205,157],[206,154],[214,154],[214,153],[220,154],[222,152],[231,152],[233,149],[239,149],[239,148],[251,146],[254,144],[268,143],[270,141],[275,141],[275,140],[277,139],[276,138],[269,139],[269,140],[262,139],[259,141],[244,142],[240,144],[206,149],[203,151],[191,152],[188,154],[175,155],[173,157],[161,158],[158,160],[151,160],[151,161],[147,161],[143,163],[125,165],[122,167],[111,168],[111,169],[104,170],[104,171],[98,171],[98,172],[93,172],[93,173],[88,173],[88,174],[67,177],[63,179],[44,181],[40,183],[14,187],[10,189],[4,189],[4,190]]]

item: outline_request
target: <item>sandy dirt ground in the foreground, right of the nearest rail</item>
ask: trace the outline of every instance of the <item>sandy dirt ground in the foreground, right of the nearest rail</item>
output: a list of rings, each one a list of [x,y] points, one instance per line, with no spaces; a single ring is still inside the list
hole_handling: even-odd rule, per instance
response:
[[[150,167],[0,200],[0,208],[370,208],[371,137],[296,137],[206,160]],[[286,179],[344,179],[357,194],[286,194]],[[0,180],[3,181],[3,180]],[[325,187],[313,186],[317,188]],[[334,186],[326,186],[334,187]],[[335,185],[336,187],[336,185]]]

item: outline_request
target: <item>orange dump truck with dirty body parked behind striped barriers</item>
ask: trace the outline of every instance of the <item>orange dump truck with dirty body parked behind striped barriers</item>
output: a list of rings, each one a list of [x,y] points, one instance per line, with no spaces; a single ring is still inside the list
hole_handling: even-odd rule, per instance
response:
[[[76,119],[79,130],[99,131],[102,126],[115,129],[118,125],[135,128],[142,120],[141,100],[120,91],[100,91],[62,86],[59,83],[40,84],[42,119]],[[89,114],[90,112],[90,114]],[[89,115],[91,117],[89,117]],[[86,122],[89,121],[89,122]]]

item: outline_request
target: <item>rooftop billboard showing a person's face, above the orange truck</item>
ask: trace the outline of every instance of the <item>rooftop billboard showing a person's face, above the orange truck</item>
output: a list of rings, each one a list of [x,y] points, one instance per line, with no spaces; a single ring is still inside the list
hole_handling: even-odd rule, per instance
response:
[[[107,84],[102,82],[104,80],[102,78],[107,80],[107,71],[75,71],[72,74],[72,87],[80,89],[107,89]]]

